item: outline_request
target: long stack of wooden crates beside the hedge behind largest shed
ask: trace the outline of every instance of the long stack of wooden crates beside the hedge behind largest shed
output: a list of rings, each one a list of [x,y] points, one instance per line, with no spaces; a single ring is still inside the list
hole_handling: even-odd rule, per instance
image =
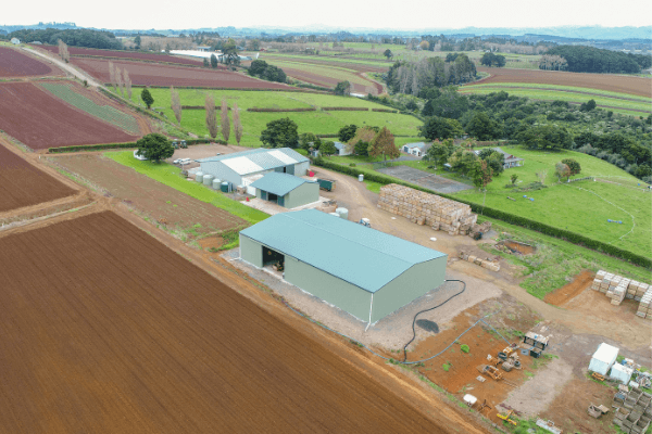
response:
[[[466,204],[396,183],[380,189],[378,207],[450,235],[468,234],[478,219]]]

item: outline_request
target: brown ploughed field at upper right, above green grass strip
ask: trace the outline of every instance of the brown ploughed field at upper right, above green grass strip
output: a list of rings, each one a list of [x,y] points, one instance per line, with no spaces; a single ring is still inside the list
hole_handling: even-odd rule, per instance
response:
[[[478,72],[489,73],[491,77],[480,82],[538,82],[543,85],[575,86],[602,89],[611,92],[630,93],[652,98],[652,79],[614,74],[566,73],[562,71],[486,68]]]

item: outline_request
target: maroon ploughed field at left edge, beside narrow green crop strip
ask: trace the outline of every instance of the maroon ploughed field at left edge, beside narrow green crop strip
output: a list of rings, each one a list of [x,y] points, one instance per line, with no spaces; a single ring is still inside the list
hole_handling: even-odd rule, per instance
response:
[[[30,82],[0,84],[0,129],[34,150],[139,139]]]

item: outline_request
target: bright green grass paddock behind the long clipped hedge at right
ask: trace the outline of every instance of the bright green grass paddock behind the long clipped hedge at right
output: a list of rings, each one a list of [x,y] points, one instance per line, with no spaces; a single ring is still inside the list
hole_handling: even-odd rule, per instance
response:
[[[578,152],[503,149],[525,158],[525,165],[505,170],[487,186],[487,206],[568,229],[639,255],[651,255],[652,196],[637,186],[638,179],[600,158]],[[557,183],[554,165],[563,158],[575,158],[580,164],[581,174],[577,177],[609,177],[624,186],[593,181]],[[546,189],[518,193],[505,188],[511,175],[517,175],[517,184],[523,187],[536,181],[536,174],[540,171],[548,174]],[[484,201],[484,194],[477,190],[466,190],[455,196],[478,204]],[[622,220],[623,225],[607,222],[607,219]]]

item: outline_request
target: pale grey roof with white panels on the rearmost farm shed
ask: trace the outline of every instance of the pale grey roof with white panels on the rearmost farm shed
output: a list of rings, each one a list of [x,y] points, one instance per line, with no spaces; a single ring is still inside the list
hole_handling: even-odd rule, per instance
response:
[[[198,163],[221,162],[238,175],[255,174],[308,161],[306,157],[289,148],[259,148],[251,151],[197,159]]]

